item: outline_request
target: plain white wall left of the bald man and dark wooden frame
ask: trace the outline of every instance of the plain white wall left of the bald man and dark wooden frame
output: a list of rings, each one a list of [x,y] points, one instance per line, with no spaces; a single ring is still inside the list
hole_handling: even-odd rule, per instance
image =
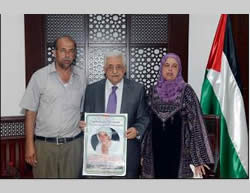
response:
[[[1,15],[1,116],[21,115],[25,90],[24,15]]]

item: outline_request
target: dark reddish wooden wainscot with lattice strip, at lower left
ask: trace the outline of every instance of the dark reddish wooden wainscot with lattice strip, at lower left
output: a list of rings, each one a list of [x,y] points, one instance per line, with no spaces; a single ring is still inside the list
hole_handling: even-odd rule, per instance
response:
[[[1,117],[0,178],[33,178],[25,163],[25,136],[20,132],[23,116]]]

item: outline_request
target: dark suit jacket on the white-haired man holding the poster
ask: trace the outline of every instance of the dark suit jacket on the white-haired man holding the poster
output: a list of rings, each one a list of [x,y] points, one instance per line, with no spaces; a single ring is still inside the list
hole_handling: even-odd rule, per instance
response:
[[[87,86],[83,112],[105,112],[105,83],[106,79],[103,79]],[[142,84],[124,78],[121,113],[128,114],[128,128],[135,127],[142,137],[150,120]],[[140,157],[140,141],[137,138],[129,139],[127,141],[126,177],[138,177]]]

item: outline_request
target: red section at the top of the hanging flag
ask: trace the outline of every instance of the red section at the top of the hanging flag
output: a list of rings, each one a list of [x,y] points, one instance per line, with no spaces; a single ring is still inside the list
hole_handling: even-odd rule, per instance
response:
[[[221,57],[224,47],[224,37],[226,31],[227,15],[222,14],[216,30],[213,45],[210,51],[207,69],[213,69],[218,72],[221,70]]]

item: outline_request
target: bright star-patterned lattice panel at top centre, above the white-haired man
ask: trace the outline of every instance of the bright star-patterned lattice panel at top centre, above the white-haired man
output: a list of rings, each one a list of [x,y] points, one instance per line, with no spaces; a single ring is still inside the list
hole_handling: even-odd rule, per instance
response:
[[[126,43],[125,14],[90,14],[90,43]]]

